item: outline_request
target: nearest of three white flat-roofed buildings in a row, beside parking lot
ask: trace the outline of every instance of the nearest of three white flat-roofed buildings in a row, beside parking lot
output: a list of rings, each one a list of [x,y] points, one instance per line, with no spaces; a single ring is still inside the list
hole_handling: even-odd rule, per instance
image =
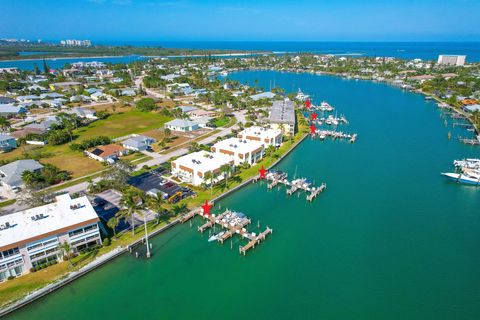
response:
[[[206,179],[207,172],[210,172],[214,175],[215,183],[224,179],[221,167],[225,164],[233,166],[234,160],[223,154],[202,150],[172,161],[172,174],[183,182],[199,186],[210,183],[210,180]]]

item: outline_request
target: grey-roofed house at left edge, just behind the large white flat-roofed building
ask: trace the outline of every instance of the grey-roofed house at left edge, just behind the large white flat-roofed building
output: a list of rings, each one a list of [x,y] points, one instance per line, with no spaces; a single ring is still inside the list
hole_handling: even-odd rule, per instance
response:
[[[25,171],[39,172],[43,166],[35,160],[17,160],[0,167],[0,184],[7,191],[18,191],[23,187],[22,175]]]

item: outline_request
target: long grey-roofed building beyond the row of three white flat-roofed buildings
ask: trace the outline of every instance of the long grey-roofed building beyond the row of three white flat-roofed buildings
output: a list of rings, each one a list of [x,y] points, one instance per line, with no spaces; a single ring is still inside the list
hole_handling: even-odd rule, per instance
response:
[[[293,101],[285,99],[273,101],[270,107],[268,122],[273,129],[280,129],[284,135],[295,134],[296,117]]]

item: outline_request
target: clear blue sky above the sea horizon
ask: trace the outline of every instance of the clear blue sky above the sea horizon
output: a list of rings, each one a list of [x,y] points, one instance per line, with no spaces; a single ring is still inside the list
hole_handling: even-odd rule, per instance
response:
[[[479,0],[0,0],[0,38],[480,41]]]

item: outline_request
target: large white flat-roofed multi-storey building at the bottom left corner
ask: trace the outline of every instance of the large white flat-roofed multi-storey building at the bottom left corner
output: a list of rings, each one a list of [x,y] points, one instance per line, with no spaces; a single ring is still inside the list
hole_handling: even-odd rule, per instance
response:
[[[67,243],[76,253],[102,244],[100,219],[87,197],[68,193],[54,203],[0,216],[0,282],[51,261]]]

